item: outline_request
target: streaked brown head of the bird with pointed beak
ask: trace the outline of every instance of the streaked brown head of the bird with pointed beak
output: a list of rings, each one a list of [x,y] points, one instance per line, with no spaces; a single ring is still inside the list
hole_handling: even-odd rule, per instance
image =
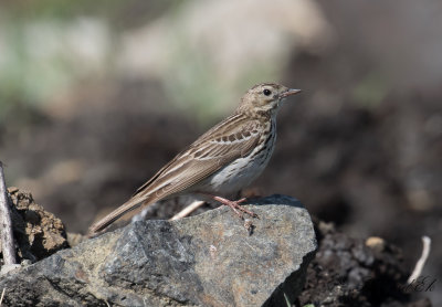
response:
[[[238,107],[240,112],[276,113],[284,98],[299,93],[280,84],[263,83],[249,89]]]

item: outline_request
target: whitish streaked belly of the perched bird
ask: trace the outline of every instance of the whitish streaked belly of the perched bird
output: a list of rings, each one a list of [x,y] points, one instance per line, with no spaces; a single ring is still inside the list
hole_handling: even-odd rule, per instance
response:
[[[248,187],[265,169],[272,155],[273,146],[271,148],[271,150],[260,150],[260,148],[256,148],[250,156],[232,161],[209,177],[204,187],[201,187],[201,190],[204,192],[231,194]],[[254,158],[251,159],[250,157],[253,156]]]

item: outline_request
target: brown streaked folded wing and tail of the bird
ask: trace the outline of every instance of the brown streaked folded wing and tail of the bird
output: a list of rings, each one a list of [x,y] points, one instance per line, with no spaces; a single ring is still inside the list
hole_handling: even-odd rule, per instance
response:
[[[227,163],[250,154],[260,140],[259,120],[236,114],[221,121],[178,154],[135,194],[108,215],[94,223],[90,233],[96,233],[141,203],[150,204],[179,193],[213,174]]]

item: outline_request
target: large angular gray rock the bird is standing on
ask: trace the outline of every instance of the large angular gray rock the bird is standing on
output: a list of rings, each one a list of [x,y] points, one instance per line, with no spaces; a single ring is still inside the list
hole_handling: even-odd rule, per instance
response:
[[[252,235],[224,207],[135,222],[3,276],[3,304],[287,306],[316,251],[311,218],[290,197],[252,203]]]

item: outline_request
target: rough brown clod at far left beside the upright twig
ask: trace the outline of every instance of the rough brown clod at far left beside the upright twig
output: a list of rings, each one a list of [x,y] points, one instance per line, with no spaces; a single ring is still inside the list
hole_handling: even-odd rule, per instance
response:
[[[31,193],[9,188],[19,260],[36,262],[69,247],[62,221],[36,204]]]

